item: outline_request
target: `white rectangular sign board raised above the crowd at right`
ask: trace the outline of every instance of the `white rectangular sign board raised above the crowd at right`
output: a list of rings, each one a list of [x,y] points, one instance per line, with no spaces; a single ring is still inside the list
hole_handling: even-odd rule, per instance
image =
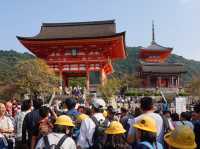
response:
[[[175,105],[176,105],[176,113],[181,114],[186,111],[186,97],[176,97]]]

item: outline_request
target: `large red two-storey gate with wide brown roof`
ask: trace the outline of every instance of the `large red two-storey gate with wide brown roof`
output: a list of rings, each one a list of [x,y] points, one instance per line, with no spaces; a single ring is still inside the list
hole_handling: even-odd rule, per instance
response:
[[[126,58],[125,32],[116,33],[114,20],[44,23],[38,35],[17,38],[60,74],[63,86],[69,77],[82,76],[87,88],[104,83],[113,72],[111,62]]]

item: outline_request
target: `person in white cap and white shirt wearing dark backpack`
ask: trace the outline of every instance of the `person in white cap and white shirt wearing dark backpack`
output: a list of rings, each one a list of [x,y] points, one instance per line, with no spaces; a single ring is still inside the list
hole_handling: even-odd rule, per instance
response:
[[[93,117],[98,122],[104,122],[105,117],[103,116],[103,109],[105,107],[105,101],[101,98],[95,98],[92,102]],[[95,123],[91,118],[87,118],[81,123],[80,135],[77,141],[78,148],[85,149],[93,145],[93,134],[95,131]]]

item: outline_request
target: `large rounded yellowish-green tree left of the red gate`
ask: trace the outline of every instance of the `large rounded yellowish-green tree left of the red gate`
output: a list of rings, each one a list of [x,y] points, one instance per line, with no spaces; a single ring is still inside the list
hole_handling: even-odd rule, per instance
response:
[[[16,65],[14,84],[21,95],[31,97],[53,93],[59,79],[48,65],[40,59],[22,61]]]

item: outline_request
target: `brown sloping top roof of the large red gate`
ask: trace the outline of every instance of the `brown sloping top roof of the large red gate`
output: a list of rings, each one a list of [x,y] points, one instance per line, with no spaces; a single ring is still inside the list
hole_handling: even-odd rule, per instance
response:
[[[72,22],[72,23],[43,23],[40,33],[33,37],[17,37],[24,40],[50,40],[95,38],[113,36],[116,34],[115,20]]]

